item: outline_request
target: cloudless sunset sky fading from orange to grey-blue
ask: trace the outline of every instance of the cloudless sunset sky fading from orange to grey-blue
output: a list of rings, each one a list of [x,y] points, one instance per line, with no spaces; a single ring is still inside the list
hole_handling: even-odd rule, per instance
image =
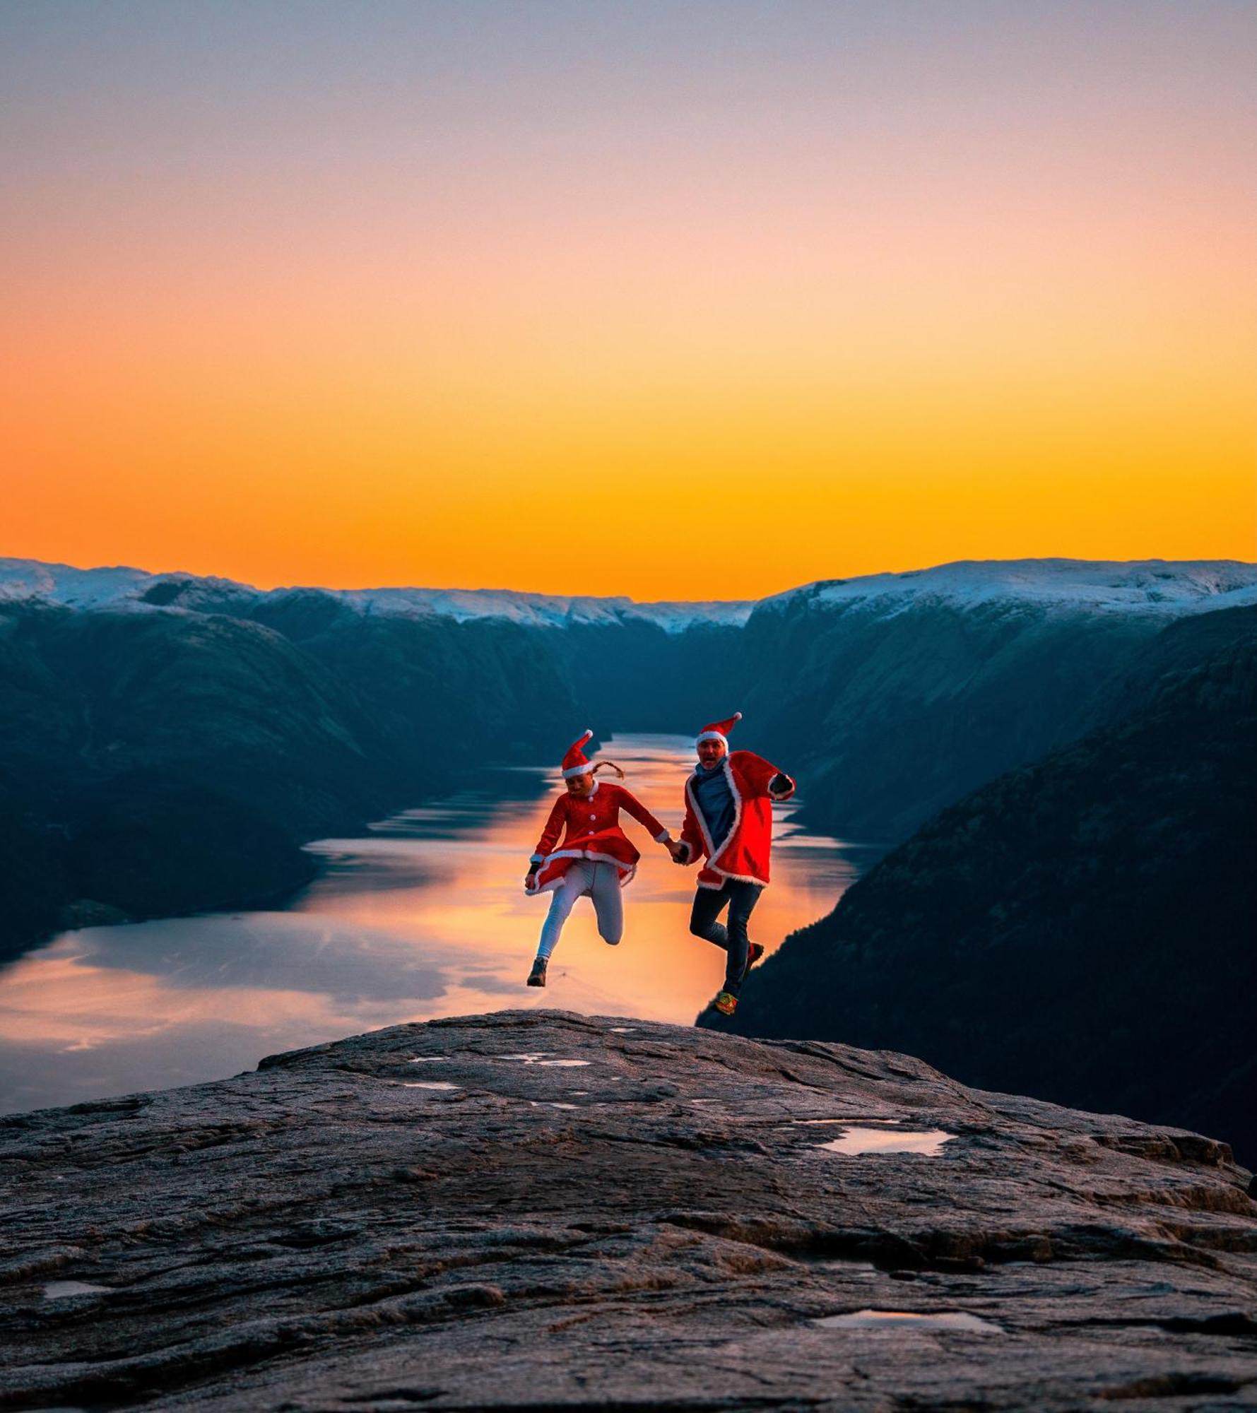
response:
[[[1250,0],[4,0],[0,555],[1257,558]]]

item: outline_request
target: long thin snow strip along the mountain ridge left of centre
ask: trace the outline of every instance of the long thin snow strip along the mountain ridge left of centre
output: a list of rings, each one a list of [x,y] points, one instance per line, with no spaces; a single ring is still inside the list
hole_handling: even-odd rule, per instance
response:
[[[174,606],[192,612],[240,612],[254,603],[304,593],[328,595],[364,616],[436,615],[459,623],[469,619],[506,619],[530,627],[645,620],[669,633],[684,632],[695,623],[739,626],[754,608],[753,602],[734,601],[636,603],[630,598],[600,599],[514,589],[256,589],[232,579],[182,572],[148,574],[124,565],[78,569],[40,560],[0,558],[0,601],[41,599],[82,609],[148,610],[154,606]]]

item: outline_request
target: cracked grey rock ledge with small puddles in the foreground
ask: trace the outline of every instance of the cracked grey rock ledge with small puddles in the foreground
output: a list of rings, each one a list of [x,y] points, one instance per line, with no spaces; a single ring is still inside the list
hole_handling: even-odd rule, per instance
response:
[[[888,1051],[394,1026],[0,1119],[0,1181],[6,1407],[1257,1407],[1226,1145]]]

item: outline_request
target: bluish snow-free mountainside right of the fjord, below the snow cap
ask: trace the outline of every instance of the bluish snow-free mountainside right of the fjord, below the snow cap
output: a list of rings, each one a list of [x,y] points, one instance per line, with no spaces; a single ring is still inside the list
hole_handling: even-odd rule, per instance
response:
[[[744,711],[808,781],[806,817],[901,839],[939,808],[1085,729],[1088,702],[1160,615],[1007,598],[815,603],[751,615]]]

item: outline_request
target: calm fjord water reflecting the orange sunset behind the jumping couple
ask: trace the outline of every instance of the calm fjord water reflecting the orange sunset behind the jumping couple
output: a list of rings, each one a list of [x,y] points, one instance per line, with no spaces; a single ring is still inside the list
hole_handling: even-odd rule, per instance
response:
[[[626,735],[599,755],[679,832],[689,738]],[[0,969],[0,1112],[222,1078],[404,1020],[531,1006],[692,1020],[725,954],[689,935],[696,869],[627,817],[643,858],[623,942],[597,937],[582,899],[549,986],[524,986],[548,896],[523,877],[558,788],[552,767],[479,770],[363,838],[311,844],[321,875],[282,909],[62,933]],[[869,856],[808,832],[798,807],[774,810],[773,885],[751,927],[768,951],[828,913]]]

